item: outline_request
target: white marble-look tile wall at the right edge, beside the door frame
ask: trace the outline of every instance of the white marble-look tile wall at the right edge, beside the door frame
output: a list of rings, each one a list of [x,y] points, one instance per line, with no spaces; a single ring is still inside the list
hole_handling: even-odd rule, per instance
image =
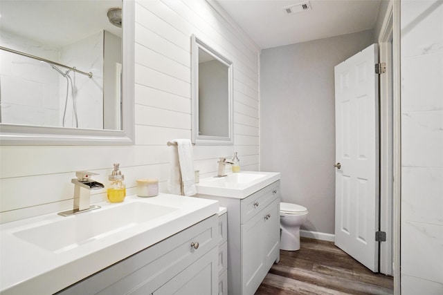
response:
[[[401,1],[401,294],[443,294],[443,2]]]

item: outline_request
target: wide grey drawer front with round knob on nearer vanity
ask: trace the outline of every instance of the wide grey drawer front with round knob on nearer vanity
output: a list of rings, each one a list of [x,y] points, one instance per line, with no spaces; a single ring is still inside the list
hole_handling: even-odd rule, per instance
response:
[[[217,215],[207,218],[60,294],[151,294],[208,251],[217,249],[217,224]],[[191,246],[192,242],[199,242],[198,249]]]

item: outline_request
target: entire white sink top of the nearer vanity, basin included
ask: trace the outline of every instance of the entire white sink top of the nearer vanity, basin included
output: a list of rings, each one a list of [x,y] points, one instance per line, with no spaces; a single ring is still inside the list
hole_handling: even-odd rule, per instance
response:
[[[217,201],[167,193],[96,204],[0,225],[0,294],[54,294],[219,211]]]

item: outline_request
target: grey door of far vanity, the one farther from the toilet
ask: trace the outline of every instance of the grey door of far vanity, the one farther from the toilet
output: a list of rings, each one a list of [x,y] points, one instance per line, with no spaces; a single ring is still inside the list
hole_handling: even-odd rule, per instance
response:
[[[242,225],[242,294],[253,294],[266,275],[263,226],[264,211]]]

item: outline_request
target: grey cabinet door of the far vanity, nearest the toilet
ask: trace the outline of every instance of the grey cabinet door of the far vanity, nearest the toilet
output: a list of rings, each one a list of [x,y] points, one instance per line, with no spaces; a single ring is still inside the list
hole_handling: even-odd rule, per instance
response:
[[[280,258],[280,199],[266,207],[264,218],[263,242],[266,254],[266,269],[271,268]]]

